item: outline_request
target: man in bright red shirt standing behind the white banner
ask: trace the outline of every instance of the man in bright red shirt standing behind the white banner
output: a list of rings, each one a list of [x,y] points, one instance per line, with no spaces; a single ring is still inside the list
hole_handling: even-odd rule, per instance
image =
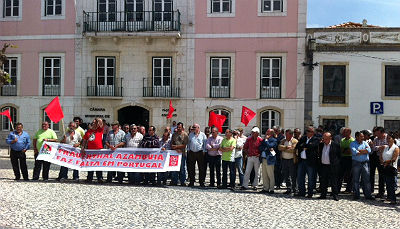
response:
[[[91,123],[91,129],[89,129],[82,141],[81,156],[85,158],[85,149],[103,149],[103,132],[104,123],[101,118],[95,118]],[[88,172],[87,183],[91,183],[93,180],[93,171]],[[103,183],[103,172],[96,171],[96,177],[98,183]]]

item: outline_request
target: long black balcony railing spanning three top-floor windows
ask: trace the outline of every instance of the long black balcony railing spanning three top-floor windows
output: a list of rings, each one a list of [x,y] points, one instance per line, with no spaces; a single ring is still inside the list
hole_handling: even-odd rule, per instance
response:
[[[83,32],[166,32],[181,30],[179,11],[83,11]]]

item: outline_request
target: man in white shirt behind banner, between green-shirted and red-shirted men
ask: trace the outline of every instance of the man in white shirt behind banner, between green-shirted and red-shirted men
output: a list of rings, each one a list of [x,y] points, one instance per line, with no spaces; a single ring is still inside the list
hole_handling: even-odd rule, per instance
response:
[[[77,131],[76,128],[77,124],[75,122],[70,122],[68,124],[68,130],[67,133],[64,135],[63,139],[61,140],[61,143],[66,143],[68,145],[71,145],[73,147],[79,147],[82,141],[82,136],[80,133]],[[72,175],[74,181],[79,181],[79,171],[74,169],[73,175]],[[68,179],[68,168],[61,166],[60,168],[60,173],[58,174],[58,181],[65,181]]]

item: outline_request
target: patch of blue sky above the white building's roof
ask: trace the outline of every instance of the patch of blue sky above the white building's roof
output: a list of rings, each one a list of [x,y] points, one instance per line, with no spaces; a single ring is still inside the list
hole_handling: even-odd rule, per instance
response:
[[[307,27],[344,22],[400,27],[400,0],[308,0]]]

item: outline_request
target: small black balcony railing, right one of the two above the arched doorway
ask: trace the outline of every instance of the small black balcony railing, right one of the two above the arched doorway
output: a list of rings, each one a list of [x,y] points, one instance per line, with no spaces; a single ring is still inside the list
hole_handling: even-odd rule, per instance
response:
[[[162,86],[155,85],[152,78],[143,78],[143,97],[179,98],[181,96],[180,82],[180,78],[172,82],[170,79],[164,79],[164,84],[169,85]]]

